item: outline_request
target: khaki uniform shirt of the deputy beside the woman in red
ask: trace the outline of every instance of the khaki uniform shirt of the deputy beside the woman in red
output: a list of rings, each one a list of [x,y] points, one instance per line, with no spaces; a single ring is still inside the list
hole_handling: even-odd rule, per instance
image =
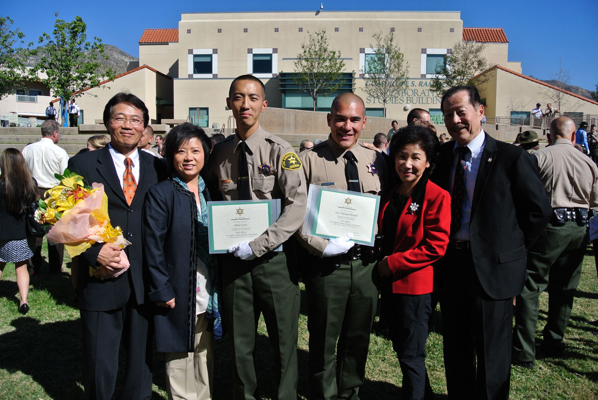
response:
[[[359,184],[362,193],[380,196],[386,183],[386,163],[382,155],[376,150],[365,148],[359,143],[351,149],[357,160]],[[344,167],[347,161],[343,158],[346,150],[341,148],[330,137],[326,142],[318,143],[312,149],[302,151],[300,158],[303,161],[303,172],[309,184],[322,185],[329,188],[347,190],[347,178]],[[376,167],[376,173],[369,172],[371,164]],[[312,254],[324,257],[324,249],[328,239],[315,236],[301,235],[301,229],[296,235],[301,244]]]

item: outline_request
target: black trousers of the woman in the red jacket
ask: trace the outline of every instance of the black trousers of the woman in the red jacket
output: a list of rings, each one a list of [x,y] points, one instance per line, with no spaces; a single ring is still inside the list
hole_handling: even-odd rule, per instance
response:
[[[426,372],[428,321],[432,315],[431,294],[390,294],[390,337],[403,374],[402,398],[431,399]]]

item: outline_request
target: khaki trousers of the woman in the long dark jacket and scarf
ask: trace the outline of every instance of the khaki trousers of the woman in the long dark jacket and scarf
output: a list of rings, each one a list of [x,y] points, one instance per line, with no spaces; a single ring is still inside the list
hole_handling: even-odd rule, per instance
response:
[[[170,400],[212,398],[213,339],[207,327],[205,313],[198,314],[194,352],[166,353],[166,391]]]

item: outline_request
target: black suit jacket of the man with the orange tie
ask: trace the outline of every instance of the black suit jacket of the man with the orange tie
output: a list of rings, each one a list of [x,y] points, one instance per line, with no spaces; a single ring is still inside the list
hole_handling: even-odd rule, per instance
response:
[[[149,187],[166,178],[166,164],[160,158],[139,151],[139,182],[131,205],[124,198],[123,188],[117,176],[108,146],[75,155],[69,160],[68,169],[93,182],[104,185],[108,196],[108,215],[113,227],[120,227],[124,237],[131,242],[125,248],[130,268],[113,279],[97,279],[89,276],[89,265],[96,265],[97,255],[103,243],[96,243],[78,257],[77,305],[89,311],[108,311],[123,307],[134,296],[137,304],[145,298],[142,271],[141,240],[142,212],[145,194]]]

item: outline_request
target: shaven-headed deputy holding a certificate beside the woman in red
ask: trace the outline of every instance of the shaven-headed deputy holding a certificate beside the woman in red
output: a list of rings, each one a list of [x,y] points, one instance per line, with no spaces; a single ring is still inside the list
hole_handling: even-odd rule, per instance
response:
[[[380,195],[386,164],[379,152],[358,145],[365,126],[361,97],[335,97],[327,116],[326,142],[301,152],[307,184]],[[310,252],[304,262],[312,399],[358,398],[378,291],[372,282],[372,248],[350,237],[327,240],[301,236]],[[338,348],[335,354],[335,345]]]

